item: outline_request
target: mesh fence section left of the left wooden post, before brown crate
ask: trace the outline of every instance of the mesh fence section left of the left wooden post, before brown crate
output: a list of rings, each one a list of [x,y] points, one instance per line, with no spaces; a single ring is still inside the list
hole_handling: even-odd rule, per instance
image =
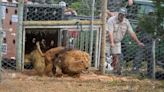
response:
[[[7,70],[16,70],[16,60],[15,60],[15,52],[16,52],[16,23],[18,22],[17,16],[17,7],[16,3],[1,3],[1,22],[2,27],[0,31],[2,31],[2,48],[0,48],[2,53],[2,61],[0,66],[0,71],[2,74]],[[1,76],[3,77],[3,76]]]

